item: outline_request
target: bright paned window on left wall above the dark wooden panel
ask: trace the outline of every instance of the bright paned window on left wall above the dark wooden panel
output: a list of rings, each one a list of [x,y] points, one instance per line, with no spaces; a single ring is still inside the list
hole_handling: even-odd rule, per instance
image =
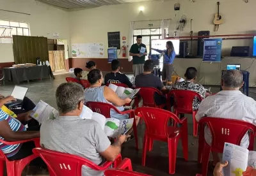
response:
[[[13,35],[30,36],[28,23],[0,20],[0,43],[12,43]]]

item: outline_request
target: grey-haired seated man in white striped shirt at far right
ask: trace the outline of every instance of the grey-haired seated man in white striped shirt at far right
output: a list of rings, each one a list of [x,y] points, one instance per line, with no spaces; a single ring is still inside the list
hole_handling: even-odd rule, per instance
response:
[[[238,70],[227,70],[221,80],[223,91],[202,100],[196,121],[204,117],[220,117],[223,119],[236,119],[256,124],[256,101],[245,96],[239,89],[243,86],[243,73]],[[205,141],[211,145],[212,135],[209,128],[205,128]],[[241,140],[242,147],[248,147],[249,136],[244,135]],[[218,153],[212,152],[212,166],[220,161]]]

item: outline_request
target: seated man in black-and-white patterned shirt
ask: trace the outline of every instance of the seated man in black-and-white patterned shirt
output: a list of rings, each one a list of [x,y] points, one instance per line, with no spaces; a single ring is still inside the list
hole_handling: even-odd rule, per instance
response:
[[[195,91],[200,94],[200,96],[204,99],[205,98],[205,89],[204,86],[201,84],[195,84],[197,70],[195,67],[189,67],[186,70],[184,77],[186,80],[179,82],[180,78],[177,79],[175,84],[172,86],[172,89],[180,89],[180,90],[189,90]],[[193,109],[198,110],[200,105],[200,101],[198,98],[195,98],[193,101]]]

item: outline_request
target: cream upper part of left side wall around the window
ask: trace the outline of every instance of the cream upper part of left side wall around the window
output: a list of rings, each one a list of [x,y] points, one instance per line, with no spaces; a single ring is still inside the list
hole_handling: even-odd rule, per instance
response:
[[[70,39],[68,11],[55,8],[34,0],[0,0],[3,10],[19,11],[31,15],[22,15],[0,11],[0,20],[28,22],[31,36],[53,38],[53,33],[60,33],[60,38]],[[13,49],[10,43],[0,43],[0,62],[13,62]]]

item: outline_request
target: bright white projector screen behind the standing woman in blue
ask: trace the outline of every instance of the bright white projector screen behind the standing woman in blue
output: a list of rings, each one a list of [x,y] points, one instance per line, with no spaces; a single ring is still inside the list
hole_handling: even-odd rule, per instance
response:
[[[176,53],[176,55],[179,55],[180,54],[180,40],[178,40],[178,39],[173,39],[173,40],[168,40],[168,39],[152,40],[151,41],[151,46],[152,46],[152,48],[155,48],[155,49],[166,50],[166,42],[167,41],[172,41],[175,53]],[[159,54],[159,52],[156,52],[155,50],[151,50],[151,54]]]

